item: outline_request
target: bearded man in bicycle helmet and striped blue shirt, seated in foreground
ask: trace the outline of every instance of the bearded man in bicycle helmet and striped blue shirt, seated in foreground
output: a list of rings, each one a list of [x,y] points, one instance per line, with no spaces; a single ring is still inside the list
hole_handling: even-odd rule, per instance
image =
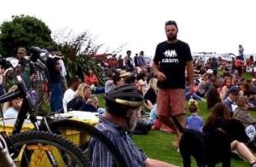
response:
[[[127,166],[174,166],[148,158],[131,140],[130,136],[125,133],[135,129],[143,105],[143,95],[135,86],[131,84],[119,86],[104,95],[104,99],[107,111],[100,116],[100,123],[96,125],[96,128],[113,142],[121,156],[125,158]],[[108,153],[108,149],[95,138],[90,140],[89,151],[92,166],[113,166],[112,154]]]

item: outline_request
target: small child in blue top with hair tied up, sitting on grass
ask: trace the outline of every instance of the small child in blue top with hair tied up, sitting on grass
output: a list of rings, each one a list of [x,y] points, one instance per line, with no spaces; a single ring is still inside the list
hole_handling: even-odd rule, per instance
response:
[[[189,100],[189,112],[191,113],[191,115],[185,120],[187,129],[202,131],[204,121],[200,116],[198,116],[198,111],[199,110],[197,101],[191,98]]]

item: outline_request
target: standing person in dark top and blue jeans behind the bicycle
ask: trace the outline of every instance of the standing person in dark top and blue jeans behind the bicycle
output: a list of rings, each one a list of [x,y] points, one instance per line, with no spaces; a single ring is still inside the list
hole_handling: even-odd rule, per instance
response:
[[[62,112],[61,64],[55,55],[55,47],[46,48],[52,57],[46,60],[49,73],[50,109],[51,112]]]

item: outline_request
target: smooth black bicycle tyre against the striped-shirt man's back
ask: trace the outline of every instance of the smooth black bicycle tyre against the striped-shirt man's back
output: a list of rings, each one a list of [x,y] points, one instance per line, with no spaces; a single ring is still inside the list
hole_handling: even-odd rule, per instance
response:
[[[45,127],[44,127],[45,128]],[[81,121],[73,120],[73,119],[57,119],[49,123],[49,128],[54,133],[59,133],[60,130],[77,130],[82,133],[87,133],[90,136],[96,138],[97,141],[101,142],[105,147],[107,147],[108,152],[111,153],[114,159],[114,163],[117,167],[127,167],[128,165],[125,163],[125,158],[121,156],[119,150],[113,145],[113,142],[108,139],[108,137],[100,130],[97,130],[95,127],[90,124],[86,124]],[[45,130],[45,129],[44,129]],[[77,143],[76,143],[77,144]],[[85,143],[86,144],[86,143]],[[84,145],[80,147],[84,150]]]

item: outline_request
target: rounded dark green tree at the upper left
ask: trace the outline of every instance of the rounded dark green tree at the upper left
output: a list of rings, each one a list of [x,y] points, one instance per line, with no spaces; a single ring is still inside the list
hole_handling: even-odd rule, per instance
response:
[[[0,26],[0,52],[3,55],[15,55],[19,47],[45,47],[53,44],[49,27],[42,20],[23,15],[12,16]]]

